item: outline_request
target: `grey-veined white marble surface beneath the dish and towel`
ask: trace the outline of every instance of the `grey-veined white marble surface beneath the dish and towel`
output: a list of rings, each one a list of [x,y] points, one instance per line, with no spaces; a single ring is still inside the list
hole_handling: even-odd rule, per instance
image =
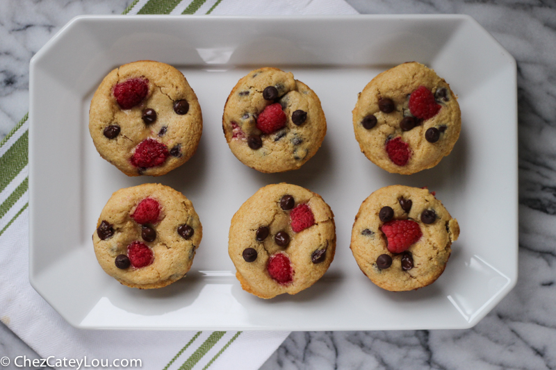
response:
[[[0,140],[28,110],[31,56],[75,15],[120,14],[128,2],[0,1]],[[518,283],[474,328],[296,332],[262,369],[555,369],[556,2],[347,2],[367,14],[468,14],[516,58],[520,187]],[[503,133],[493,140],[503,140]],[[496,210],[488,212],[496,217]],[[3,324],[0,324],[0,353],[33,357],[31,348]]]

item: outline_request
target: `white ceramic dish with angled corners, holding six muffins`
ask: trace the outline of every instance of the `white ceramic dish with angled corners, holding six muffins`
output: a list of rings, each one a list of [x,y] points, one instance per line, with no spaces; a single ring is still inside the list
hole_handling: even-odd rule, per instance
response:
[[[361,40],[365,40],[361,42]],[[181,69],[204,116],[195,156],[160,178],[128,178],[102,160],[88,133],[93,92],[114,67],[159,60]],[[408,60],[436,69],[459,95],[462,131],[433,169],[388,174],[360,153],[351,110],[379,72]],[[260,174],[222,135],[222,109],[256,66],[292,71],[320,96],[325,142],[302,169]],[[79,328],[378,330],[468,328],[516,284],[517,112],[512,56],[466,16],[77,17],[31,61],[30,280]],[[227,255],[229,222],[259,187],[295,183],[336,215],[338,246],[327,274],[295,296],[243,292]],[[186,194],[204,237],[186,278],[142,291],[101,270],[92,249],[112,192],[161,182]],[[436,190],[461,225],[444,274],[414,292],[386,292],[350,252],[361,201],[379,187]]]

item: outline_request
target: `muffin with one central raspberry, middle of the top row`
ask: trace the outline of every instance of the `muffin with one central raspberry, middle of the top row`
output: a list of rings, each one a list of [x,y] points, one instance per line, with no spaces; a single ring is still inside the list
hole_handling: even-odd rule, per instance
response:
[[[300,168],[326,134],[318,96],[291,72],[265,67],[249,72],[231,90],[222,127],[231,152],[265,173]]]

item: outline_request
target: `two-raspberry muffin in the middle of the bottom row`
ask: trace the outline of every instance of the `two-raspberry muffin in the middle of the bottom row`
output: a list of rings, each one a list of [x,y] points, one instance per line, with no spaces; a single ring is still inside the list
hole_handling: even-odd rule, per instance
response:
[[[261,298],[310,287],[325,274],[335,250],[332,210],[297,185],[262,187],[231,219],[228,253],[236,277]]]

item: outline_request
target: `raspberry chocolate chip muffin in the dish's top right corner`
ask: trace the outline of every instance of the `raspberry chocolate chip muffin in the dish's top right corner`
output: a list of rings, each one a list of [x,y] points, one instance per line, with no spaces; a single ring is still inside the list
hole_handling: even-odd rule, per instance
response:
[[[432,69],[407,62],[373,78],[359,94],[353,128],[375,165],[414,174],[438,165],[459,137],[456,96]]]

